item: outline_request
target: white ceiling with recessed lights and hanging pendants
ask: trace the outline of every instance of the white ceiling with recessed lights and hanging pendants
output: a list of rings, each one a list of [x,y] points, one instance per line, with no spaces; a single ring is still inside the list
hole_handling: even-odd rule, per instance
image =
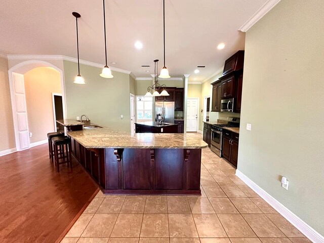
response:
[[[244,49],[245,33],[237,29],[266,0],[166,0],[166,66],[172,77],[191,74],[202,82],[224,61]],[[108,66],[136,77],[163,67],[163,0],[106,0]],[[75,18],[79,19],[80,59],[104,64],[102,1],[3,1],[0,9],[0,53],[65,55],[76,58]],[[134,47],[136,41],[143,49]],[[219,43],[224,50],[217,50]],[[110,62],[116,62],[111,64]],[[151,65],[150,68],[141,67]],[[206,65],[194,74],[197,65]],[[150,70],[150,72],[145,72]]]

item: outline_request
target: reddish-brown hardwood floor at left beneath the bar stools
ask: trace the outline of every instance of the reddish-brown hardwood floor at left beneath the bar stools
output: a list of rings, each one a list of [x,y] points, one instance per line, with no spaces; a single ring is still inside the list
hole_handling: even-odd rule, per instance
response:
[[[48,145],[0,157],[0,242],[57,242],[98,191],[73,159],[57,173]]]

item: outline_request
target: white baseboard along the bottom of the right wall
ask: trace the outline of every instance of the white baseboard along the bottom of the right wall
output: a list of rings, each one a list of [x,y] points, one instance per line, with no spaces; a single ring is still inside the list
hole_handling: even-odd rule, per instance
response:
[[[251,189],[253,189],[259,196],[261,196],[269,205],[271,205],[279,214],[285,217],[292,225],[294,225],[300,232],[314,243],[324,243],[324,237],[316,230],[310,227],[307,223],[301,220],[297,215],[287,209],[284,205],[279,203],[274,197],[263,190],[260,186],[254,183],[250,178],[236,170],[235,175],[244,181]]]

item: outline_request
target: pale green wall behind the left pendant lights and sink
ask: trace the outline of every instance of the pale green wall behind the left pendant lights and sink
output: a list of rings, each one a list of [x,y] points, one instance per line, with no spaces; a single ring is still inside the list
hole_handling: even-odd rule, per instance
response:
[[[80,64],[86,84],[77,85],[73,83],[77,63],[63,64],[67,117],[86,114],[93,123],[130,132],[130,75],[112,71],[113,78],[102,78],[101,68]]]

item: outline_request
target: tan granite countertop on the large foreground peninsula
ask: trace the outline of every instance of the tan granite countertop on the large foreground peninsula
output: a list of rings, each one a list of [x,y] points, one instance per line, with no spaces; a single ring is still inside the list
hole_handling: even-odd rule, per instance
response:
[[[68,132],[86,148],[205,148],[207,143],[195,134],[131,133],[98,128]]]

